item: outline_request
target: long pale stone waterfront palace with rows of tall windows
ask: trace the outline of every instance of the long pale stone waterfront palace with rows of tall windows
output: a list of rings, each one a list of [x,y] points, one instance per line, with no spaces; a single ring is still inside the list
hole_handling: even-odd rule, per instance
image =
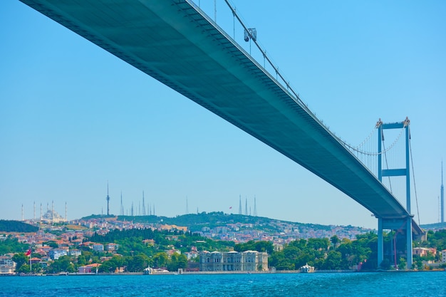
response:
[[[200,271],[268,271],[268,254],[259,251],[204,251],[199,255]]]

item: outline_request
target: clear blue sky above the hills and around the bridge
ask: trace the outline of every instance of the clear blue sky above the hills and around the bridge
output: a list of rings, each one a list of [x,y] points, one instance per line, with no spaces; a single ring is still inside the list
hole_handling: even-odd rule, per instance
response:
[[[336,135],[359,144],[378,118],[410,118],[420,222],[437,222],[446,2],[233,3]],[[51,201],[68,219],[106,212],[108,182],[113,214],[121,191],[126,212],[144,191],[168,217],[186,198],[189,212],[237,213],[241,195],[262,217],[376,228],[330,184],[46,16],[19,1],[0,1],[0,15],[1,219],[21,219],[21,204],[32,218],[33,202],[36,217]],[[217,23],[233,34],[221,0]]]

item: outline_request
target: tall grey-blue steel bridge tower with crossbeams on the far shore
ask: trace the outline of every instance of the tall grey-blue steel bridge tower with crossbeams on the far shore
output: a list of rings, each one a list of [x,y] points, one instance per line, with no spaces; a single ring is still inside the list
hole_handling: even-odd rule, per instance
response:
[[[378,129],[378,179],[383,182],[383,177],[397,177],[405,176],[405,186],[406,186],[406,209],[410,214],[410,162],[409,162],[409,124],[410,120],[405,118],[401,123],[383,123],[381,119],[376,124]],[[382,155],[383,155],[383,130],[386,129],[404,129],[405,131],[405,168],[393,168],[393,169],[383,169],[382,166]],[[401,230],[405,229],[406,233],[406,249],[407,249],[407,265],[408,269],[412,267],[413,255],[412,255],[412,219],[413,215],[406,217],[405,219],[385,219],[378,217],[378,266],[383,262],[384,259],[384,243],[383,243],[383,230]],[[396,247],[395,247],[396,248]]]

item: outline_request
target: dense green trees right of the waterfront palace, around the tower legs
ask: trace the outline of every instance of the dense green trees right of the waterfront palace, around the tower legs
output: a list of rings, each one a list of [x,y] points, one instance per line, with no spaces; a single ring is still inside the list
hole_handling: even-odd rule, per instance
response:
[[[394,244],[397,254],[395,257]],[[256,248],[254,242],[236,245],[235,249],[254,249],[265,251],[265,247]],[[428,231],[427,241],[414,241],[414,247],[430,247],[437,251],[446,249],[446,230]],[[406,267],[405,237],[394,231],[384,234],[384,261],[378,265],[378,236],[373,232],[356,236],[356,240],[338,239],[299,239],[283,246],[281,251],[273,251],[269,255],[269,266],[277,270],[297,270],[308,264],[318,270],[344,270],[361,266],[361,270],[391,269],[395,264],[400,269]],[[413,256],[414,269],[427,269],[422,261],[440,261],[440,253],[427,256]],[[445,264],[442,264],[444,267]]]

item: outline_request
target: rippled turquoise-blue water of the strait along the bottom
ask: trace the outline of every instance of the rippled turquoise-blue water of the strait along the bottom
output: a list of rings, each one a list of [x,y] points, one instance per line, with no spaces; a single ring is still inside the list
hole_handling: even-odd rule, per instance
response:
[[[4,276],[0,296],[446,296],[446,272]]]

